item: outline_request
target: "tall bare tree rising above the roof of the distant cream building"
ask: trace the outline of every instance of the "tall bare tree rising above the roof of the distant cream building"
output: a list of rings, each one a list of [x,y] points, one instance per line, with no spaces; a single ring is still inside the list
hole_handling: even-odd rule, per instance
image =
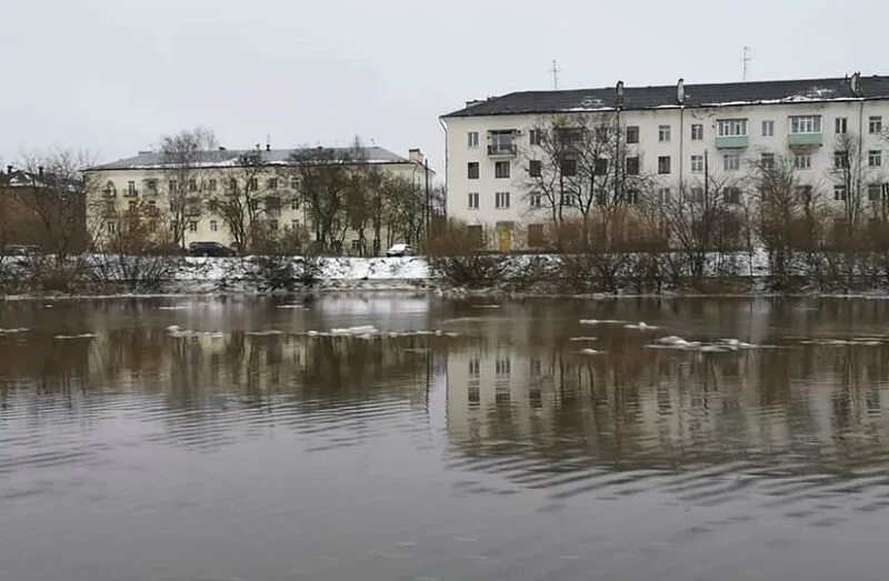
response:
[[[158,150],[169,177],[169,229],[177,244],[184,247],[189,209],[193,209],[196,200],[200,201],[202,182],[207,179],[207,167],[211,161],[209,152],[216,148],[216,136],[206,127],[186,129],[161,138]]]

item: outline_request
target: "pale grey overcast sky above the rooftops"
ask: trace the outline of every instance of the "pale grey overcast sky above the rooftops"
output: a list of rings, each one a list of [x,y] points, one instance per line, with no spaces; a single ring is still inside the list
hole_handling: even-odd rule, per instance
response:
[[[886,73],[885,0],[8,0],[0,158],[112,160],[204,124],[229,148],[360,134],[443,169],[438,117],[560,88]]]

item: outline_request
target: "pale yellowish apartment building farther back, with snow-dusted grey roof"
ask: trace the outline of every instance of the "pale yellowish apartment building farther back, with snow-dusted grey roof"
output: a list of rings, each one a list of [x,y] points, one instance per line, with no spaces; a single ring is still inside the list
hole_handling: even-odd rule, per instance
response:
[[[87,203],[87,222],[97,231],[100,248],[107,247],[120,232],[128,212],[137,209],[158,218],[158,224],[151,224],[152,231],[156,228],[169,230],[173,221],[181,220],[181,240],[173,243],[187,247],[191,242],[219,242],[233,247],[238,237],[231,232],[231,220],[226,219],[220,202],[227,204],[228,197],[240,196],[243,206],[256,204],[251,210],[244,210],[250,217],[247,221],[252,222],[246,224],[247,229],[261,226],[267,232],[289,233],[311,242],[316,218],[310,204],[306,203],[304,188],[293,168],[294,160],[312,159],[314,153],[318,153],[314,159],[341,163],[348,171],[379,169],[382,174],[401,178],[418,190],[434,178],[418,149],[410,150],[403,158],[379,147],[357,150],[220,148],[196,152],[187,163],[171,161],[157,151],[140,151],[132,158],[88,170],[93,188]],[[244,160],[250,160],[249,166]],[[343,231],[342,248],[337,250],[351,254],[367,253],[368,242],[359,240],[356,232],[344,226],[347,218],[338,216],[334,220]],[[341,227],[340,221],[343,222]]]

